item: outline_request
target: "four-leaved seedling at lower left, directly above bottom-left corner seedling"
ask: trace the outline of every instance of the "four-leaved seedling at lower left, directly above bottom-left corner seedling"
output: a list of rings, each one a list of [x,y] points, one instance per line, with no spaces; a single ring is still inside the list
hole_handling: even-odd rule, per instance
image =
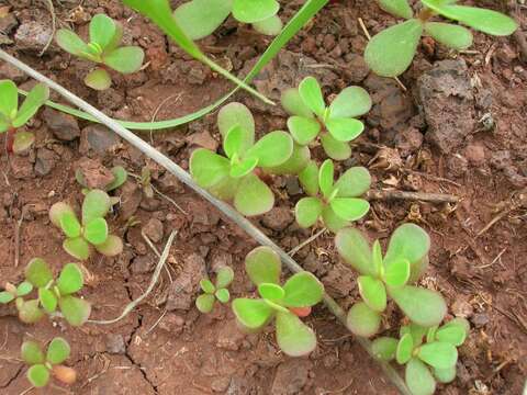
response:
[[[83,275],[79,266],[67,263],[58,279],[54,279],[49,266],[44,259],[34,258],[25,268],[24,294],[33,287],[37,290],[36,300],[24,301],[19,293],[15,300],[19,309],[19,318],[23,323],[34,324],[45,314],[57,315],[57,309],[61,316],[72,326],[85,324],[90,316],[91,305],[85,300],[75,296],[83,286]],[[22,285],[21,284],[21,285]],[[19,285],[20,287],[20,285]]]

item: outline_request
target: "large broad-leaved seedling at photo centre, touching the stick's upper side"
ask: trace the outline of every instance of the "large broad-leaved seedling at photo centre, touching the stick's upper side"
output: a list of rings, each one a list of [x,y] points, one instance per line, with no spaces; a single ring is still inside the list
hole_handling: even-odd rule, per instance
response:
[[[274,205],[274,195],[256,170],[272,171],[285,163],[293,153],[293,139],[289,133],[276,131],[255,143],[255,120],[240,103],[224,106],[217,125],[226,157],[204,148],[194,150],[190,158],[192,178],[218,199],[234,201],[246,216],[267,213]]]

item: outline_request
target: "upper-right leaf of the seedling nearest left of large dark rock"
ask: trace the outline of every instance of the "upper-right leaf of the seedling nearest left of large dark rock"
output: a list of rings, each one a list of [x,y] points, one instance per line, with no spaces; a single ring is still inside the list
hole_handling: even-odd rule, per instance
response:
[[[371,110],[371,98],[363,88],[345,88],[329,105],[329,119],[352,119],[365,115]]]

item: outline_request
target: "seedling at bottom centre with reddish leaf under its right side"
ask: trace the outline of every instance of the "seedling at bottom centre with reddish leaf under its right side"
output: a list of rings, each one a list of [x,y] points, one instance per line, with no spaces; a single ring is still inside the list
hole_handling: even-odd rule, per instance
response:
[[[274,319],[277,342],[284,353],[301,357],[313,351],[316,336],[299,317],[307,316],[311,307],[322,301],[324,285],[313,274],[301,272],[280,286],[280,258],[269,247],[249,252],[245,270],[261,298],[234,300],[233,312],[240,327],[257,331]]]

